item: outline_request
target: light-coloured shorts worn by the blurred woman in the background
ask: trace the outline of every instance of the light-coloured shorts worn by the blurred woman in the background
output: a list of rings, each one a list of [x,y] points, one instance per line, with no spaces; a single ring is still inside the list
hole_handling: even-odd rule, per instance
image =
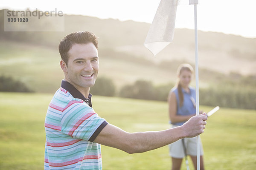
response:
[[[175,127],[175,126],[173,126]],[[186,147],[186,153],[187,155],[190,156],[196,156],[196,138],[184,138],[184,143]],[[200,136],[199,136],[200,138]],[[185,152],[182,144],[182,139],[177,140],[176,142],[173,142],[172,144],[169,144],[169,155],[173,158],[184,158],[185,157]],[[204,150],[200,138],[200,156],[204,155]]]

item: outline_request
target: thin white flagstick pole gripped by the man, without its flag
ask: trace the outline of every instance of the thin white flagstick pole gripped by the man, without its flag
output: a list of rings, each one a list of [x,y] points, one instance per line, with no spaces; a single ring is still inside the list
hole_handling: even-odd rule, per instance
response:
[[[196,115],[199,115],[199,76],[198,76],[198,29],[197,29],[197,4],[198,0],[189,0],[189,5],[194,5],[195,15],[195,101]],[[196,138],[197,170],[200,170],[200,138]]]

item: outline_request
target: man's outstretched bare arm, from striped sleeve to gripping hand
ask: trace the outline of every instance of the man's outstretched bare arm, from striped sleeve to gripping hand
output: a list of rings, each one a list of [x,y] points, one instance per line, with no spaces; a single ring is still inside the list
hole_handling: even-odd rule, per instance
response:
[[[194,137],[204,132],[207,116],[193,116],[184,125],[161,131],[128,133],[108,124],[94,142],[123,150],[127,153],[142,153],[173,143],[184,137]]]

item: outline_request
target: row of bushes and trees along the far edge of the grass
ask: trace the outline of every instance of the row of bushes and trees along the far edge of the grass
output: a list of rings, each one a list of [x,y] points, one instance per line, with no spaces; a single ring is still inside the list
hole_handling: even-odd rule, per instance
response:
[[[236,82],[222,81],[214,86],[199,89],[200,105],[227,108],[256,109],[255,77],[247,77]],[[124,98],[167,101],[174,82],[154,85],[148,80],[137,80],[117,90],[112,79],[99,77],[90,93],[99,96],[119,96]],[[12,77],[0,76],[0,91],[34,92],[25,83]]]

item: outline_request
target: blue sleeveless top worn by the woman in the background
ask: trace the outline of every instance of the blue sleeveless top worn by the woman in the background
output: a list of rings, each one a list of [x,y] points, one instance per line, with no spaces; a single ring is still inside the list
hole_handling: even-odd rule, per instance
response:
[[[177,100],[177,115],[191,115],[196,113],[196,104],[195,104],[195,88],[189,87],[190,93],[187,93],[183,88],[182,93],[184,96],[183,105],[180,107],[180,100],[178,95],[178,88],[172,88],[171,91],[175,93],[176,100]],[[186,122],[186,121],[185,121]],[[185,122],[178,122],[178,123],[172,123],[172,125],[183,125]]]

